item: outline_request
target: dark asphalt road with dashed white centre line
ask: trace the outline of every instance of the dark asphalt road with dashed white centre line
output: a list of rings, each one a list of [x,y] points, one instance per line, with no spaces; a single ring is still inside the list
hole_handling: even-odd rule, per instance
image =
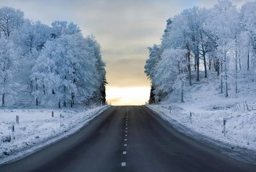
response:
[[[76,134],[0,171],[256,171],[177,132],[144,106],[113,106]]]

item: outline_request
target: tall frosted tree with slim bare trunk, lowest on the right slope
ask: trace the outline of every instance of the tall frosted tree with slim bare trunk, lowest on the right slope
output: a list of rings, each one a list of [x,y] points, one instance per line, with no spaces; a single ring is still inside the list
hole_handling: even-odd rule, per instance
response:
[[[217,44],[217,55],[221,63],[221,93],[222,80],[224,79],[224,95],[228,97],[228,58],[229,51],[232,49],[235,41],[238,11],[232,2],[218,1],[209,12],[210,20],[207,22],[207,27],[212,31],[212,39]]]

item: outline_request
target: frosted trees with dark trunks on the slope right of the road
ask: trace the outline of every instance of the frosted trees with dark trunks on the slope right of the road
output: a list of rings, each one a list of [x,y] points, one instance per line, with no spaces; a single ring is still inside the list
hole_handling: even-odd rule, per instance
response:
[[[193,7],[167,20],[160,45],[149,49],[145,73],[151,79],[150,103],[180,89],[183,102],[184,84],[192,85],[200,71],[208,78],[214,68],[220,78],[220,93],[229,95],[229,85],[238,73],[254,78],[256,62],[256,2],[237,8],[228,0],[212,8]],[[253,79],[254,80],[254,79]]]

